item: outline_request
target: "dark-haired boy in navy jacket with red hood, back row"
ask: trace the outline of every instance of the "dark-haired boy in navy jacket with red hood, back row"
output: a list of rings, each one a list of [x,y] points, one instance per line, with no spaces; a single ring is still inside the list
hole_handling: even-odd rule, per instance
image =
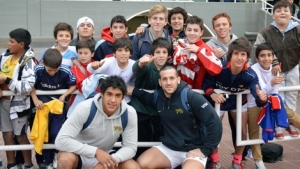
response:
[[[110,27],[101,31],[101,40],[96,44],[94,60],[100,61],[104,58],[114,56],[112,44],[116,39],[127,37],[127,21],[124,16],[117,15],[110,21]]]

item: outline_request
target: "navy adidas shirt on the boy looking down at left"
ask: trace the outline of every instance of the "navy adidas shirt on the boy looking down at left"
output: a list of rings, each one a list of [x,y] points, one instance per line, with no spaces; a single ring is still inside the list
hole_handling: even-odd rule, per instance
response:
[[[69,68],[65,66],[60,66],[58,72],[54,76],[50,76],[44,65],[36,66],[35,68],[35,89],[36,90],[59,90],[59,89],[68,89],[69,86],[76,85],[76,78],[72,74]],[[59,98],[60,95],[38,95],[39,100],[43,103],[53,100],[51,97]]]

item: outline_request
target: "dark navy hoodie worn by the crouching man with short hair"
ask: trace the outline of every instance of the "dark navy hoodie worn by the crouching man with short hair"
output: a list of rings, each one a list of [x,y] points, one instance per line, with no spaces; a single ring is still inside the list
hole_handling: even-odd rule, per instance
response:
[[[158,90],[157,101],[154,94],[135,88],[132,96],[137,97],[143,104],[157,109],[161,118],[164,135],[162,143],[175,151],[188,152],[200,148],[207,157],[220,143],[222,137],[222,122],[211,104],[199,93],[189,90],[188,103],[196,119],[204,124],[206,134],[196,132],[193,128],[193,118],[185,111],[181,102],[181,90],[187,84],[183,81],[170,98],[165,97],[161,88]],[[200,129],[198,129],[200,130]]]

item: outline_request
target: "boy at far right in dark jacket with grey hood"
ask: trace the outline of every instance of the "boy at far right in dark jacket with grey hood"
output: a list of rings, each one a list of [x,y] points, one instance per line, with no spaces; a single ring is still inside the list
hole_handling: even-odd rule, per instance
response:
[[[291,20],[291,6],[288,1],[281,0],[273,7],[273,19],[257,35],[255,46],[266,43],[274,50],[272,73],[285,74],[283,82],[279,86],[299,85],[299,52],[300,52],[300,26]],[[279,92],[288,114],[295,114],[298,91]],[[288,132],[291,136],[299,136],[299,132],[290,126]]]

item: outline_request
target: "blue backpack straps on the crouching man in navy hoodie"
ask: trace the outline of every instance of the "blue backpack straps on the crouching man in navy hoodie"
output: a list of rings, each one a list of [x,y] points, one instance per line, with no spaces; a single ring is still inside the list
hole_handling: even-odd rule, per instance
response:
[[[184,87],[180,92],[180,100],[183,105],[183,108],[185,111],[192,117],[193,119],[193,129],[197,132],[200,132],[200,135],[206,135],[206,128],[203,123],[199,124],[199,120],[196,119],[195,114],[193,113],[193,110],[188,102],[188,90],[190,90],[189,87]],[[154,91],[154,102],[156,103],[158,99],[158,91]],[[200,126],[200,127],[199,127]]]

